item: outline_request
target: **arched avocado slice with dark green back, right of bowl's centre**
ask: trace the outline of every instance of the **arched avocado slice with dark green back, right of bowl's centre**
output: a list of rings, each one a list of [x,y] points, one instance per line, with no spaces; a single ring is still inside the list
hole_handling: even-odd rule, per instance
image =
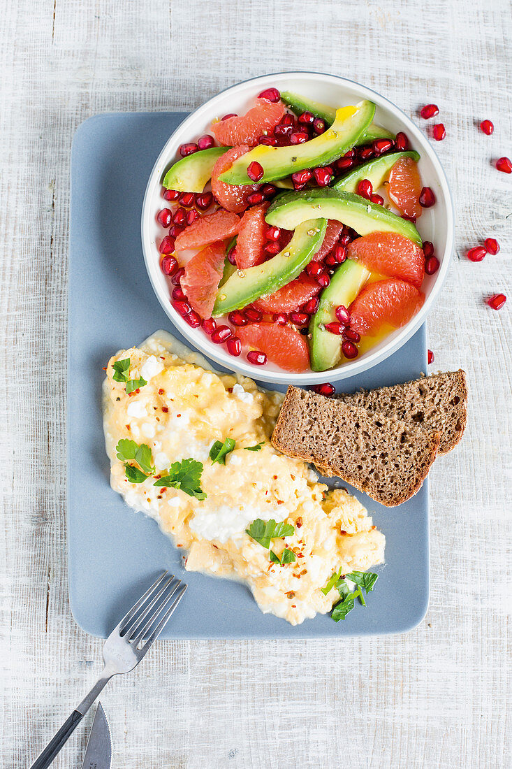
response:
[[[283,192],[274,198],[265,216],[268,225],[294,230],[304,219],[321,216],[342,221],[359,235],[370,232],[397,232],[421,248],[421,235],[412,221],[397,216],[383,205],[371,203],[361,195],[328,187]]]

